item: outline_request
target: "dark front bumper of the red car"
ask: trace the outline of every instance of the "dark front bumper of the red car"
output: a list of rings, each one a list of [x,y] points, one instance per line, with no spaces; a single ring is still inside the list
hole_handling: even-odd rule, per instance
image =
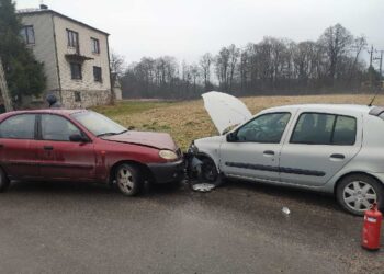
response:
[[[185,164],[183,160],[167,163],[149,163],[156,183],[172,183],[184,179]]]

